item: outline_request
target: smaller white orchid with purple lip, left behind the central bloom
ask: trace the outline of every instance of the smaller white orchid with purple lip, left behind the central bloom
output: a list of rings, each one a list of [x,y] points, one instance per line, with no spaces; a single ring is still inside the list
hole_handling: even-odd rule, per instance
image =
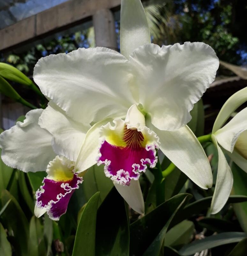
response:
[[[74,172],[73,159],[78,155],[90,126],[74,122],[65,115],[64,111],[54,104],[53,106],[56,111],[54,110],[52,118],[59,120],[60,124],[59,127],[53,128],[54,131],[60,129],[64,140],[63,146],[59,145],[61,146],[59,148],[62,151],[64,147],[69,148],[72,161],[56,152],[56,136],[38,124],[43,109],[29,111],[23,123],[17,122],[9,130],[2,132],[0,147],[6,165],[24,172],[46,170],[47,177],[43,180],[44,184],[36,192],[34,213],[40,217],[47,212],[52,220],[59,220],[67,210],[73,192],[83,181],[81,174]],[[66,127],[69,127],[70,133],[66,132]]]

